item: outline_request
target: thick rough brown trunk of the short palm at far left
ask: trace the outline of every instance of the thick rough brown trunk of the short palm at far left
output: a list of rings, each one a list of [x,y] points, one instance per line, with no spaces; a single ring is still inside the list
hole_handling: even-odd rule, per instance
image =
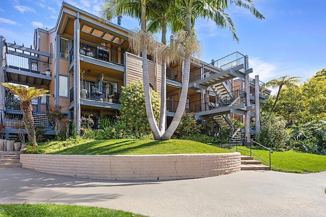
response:
[[[22,120],[27,130],[30,145],[37,146],[32,110],[33,108],[30,101],[21,102]]]

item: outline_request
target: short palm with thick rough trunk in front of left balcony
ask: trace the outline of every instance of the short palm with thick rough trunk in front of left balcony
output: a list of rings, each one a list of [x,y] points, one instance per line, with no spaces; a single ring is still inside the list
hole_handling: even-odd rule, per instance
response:
[[[10,89],[14,95],[17,95],[21,99],[22,120],[28,133],[30,145],[37,146],[31,100],[37,97],[47,96],[46,93],[48,90],[36,89],[35,87],[27,88],[21,85],[8,83],[1,84]]]

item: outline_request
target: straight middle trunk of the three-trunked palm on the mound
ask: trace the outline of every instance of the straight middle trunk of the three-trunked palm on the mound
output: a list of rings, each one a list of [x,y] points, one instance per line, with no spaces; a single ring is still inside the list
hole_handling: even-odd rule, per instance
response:
[[[167,44],[167,27],[162,24],[162,39],[163,45]],[[165,59],[162,60],[161,65],[161,107],[159,113],[159,131],[164,134],[166,128],[167,118],[167,65]]]

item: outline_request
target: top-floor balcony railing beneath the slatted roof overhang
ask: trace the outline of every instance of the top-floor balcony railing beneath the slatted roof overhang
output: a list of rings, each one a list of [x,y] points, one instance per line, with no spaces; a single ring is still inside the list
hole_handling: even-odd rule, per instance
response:
[[[79,53],[81,55],[100,59],[108,63],[114,63],[117,65],[124,66],[124,58],[123,58],[124,52],[114,48],[107,47],[106,45],[96,44],[93,42],[87,42],[87,43],[80,42]],[[71,63],[73,60],[73,47],[70,49],[69,57],[70,57],[69,61]]]

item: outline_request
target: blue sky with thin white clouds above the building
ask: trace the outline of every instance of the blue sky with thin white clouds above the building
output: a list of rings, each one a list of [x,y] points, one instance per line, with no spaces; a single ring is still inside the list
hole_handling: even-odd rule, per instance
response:
[[[67,3],[98,15],[101,0],[68,0]],[[236,25],[239,43],[228,29],[211,21],[198,20],[196,32],[202,45],[201,59],[209,62],[238,51],[249,55],[250,67],[266,82],[283,75],[303,81],[326,68],[326,1],[254,0],[266,17],[258,20],[246,10],[231,7],[228,13]],[[8,42],[33,45],[34,29],[52,28],[61,0],[3,0],[0,5],[0,35]],[[116,20],[113,20],[116,23]],[[122,26],[132,29],[138,21],[123,17]]]

